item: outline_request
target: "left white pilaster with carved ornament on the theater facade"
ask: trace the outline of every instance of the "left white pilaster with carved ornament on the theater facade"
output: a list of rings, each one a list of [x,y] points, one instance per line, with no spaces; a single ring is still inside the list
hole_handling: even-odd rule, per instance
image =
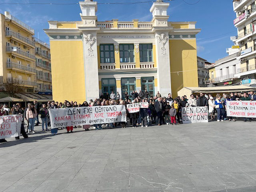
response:
[[[96,32],[83,32],[86,101],[100,96]]]

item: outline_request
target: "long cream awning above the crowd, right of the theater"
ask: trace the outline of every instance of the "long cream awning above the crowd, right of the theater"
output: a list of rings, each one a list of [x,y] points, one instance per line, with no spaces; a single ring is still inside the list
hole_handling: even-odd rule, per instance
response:
[[[184,87],[178,91],[178,96],[186,95],[188,98],[193,93],[229,93],[229,92],[245,92],[256,90],[256,88],[244,85],[234,86],[216,86],[216,87]]]

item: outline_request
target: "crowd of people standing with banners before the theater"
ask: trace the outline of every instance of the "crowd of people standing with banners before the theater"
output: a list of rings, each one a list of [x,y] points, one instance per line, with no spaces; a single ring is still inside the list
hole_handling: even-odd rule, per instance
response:
[[[34,126],[38,126],[39,123],[42,122],[42,131],[48,131],[48,127],[50,125],[50,116],[49,110],[55,108],[71,108],[71,107],[88,107],[88,106],[108,106],[108,105],[125,105],[139,102],[148,102],[148,108],[141,108],[139,112],[128,113],[126,111],[127,118],[130,120],[130,126],[142,126],[148,127],[149,124],[157,124],[158,126],[162,124],[182,124],[182,116],[181,110],[182,107],[195,107],[195,106],[207,106],[208,107],[208,115],[209,119],[212,121],[216,120],[217,113],[217,121],[235,121],[236,119],[233,117],[228,117],[226,115],[226,101],[232,100],[256,100],[256,94],[254,92],[248,93],[233,93],[230,94],[216,94],[214,97],[212,94],[203,94],[199,95],[191,94],[190,98],[187,98],[186,95],[178,96],[176,98],[172,98],[171,94],[168,94],[167,97],[162,97],[159,92],[157,92],[155,97],[150,97],[147,90],[145,91],[133,91],[129,96],[126,92],[124,94],[124,98],[120,96],[117,92],[116,94],[112,92],[110,95],[107,93],[105,95],[101,94],[100,98],[95,98],[94,100],[90,100],[89,102],[84,102],[82,104],[78,104],[76,101],[67,101],[55,102],[48,101],[46,104],[40,105],[36,100],[33,103],[28,103],[26,108],[22,108],[20,103],[14,104],[10,110],[8,109],[7,104],[0,104],[0,116],[9,115],[9,114],[22,114],[23,122],[21,127],[21,134],[24,138],[28,138],[28,134],[35,133]],[[39,121],[39,115],[41,118],[41,122]],[[24,121],[27,122],[27,131],[25,131]],[[244,121],[250,121],[249,118],[244,118]],[[119,122],[119,123],[109,123],[109,124],[94,124],[94,129],[102,129],[104,126],[106,128],[114,128],[118,125],[122,124],[122,128],[128,124],[128,122]],[[73,132],[73,126],[65,127],[67,133]],[[90,126],[84,125],[83,128],[88,131]],[[61,128],[63,129],[63,128]],[[57,134],[58,128],[51,128],[52,135]],[[16,137],[16,139],[20,139]],[[5,139],[1,139],[0,142],[6,142]]]

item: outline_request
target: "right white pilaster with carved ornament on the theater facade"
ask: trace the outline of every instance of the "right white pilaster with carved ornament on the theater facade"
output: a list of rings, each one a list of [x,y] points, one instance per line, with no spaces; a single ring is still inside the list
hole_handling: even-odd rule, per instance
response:
[[[157,89],[162,97],[172,93],[168,32],[156,32]],[[157,92],[156,92],[157,93]]]

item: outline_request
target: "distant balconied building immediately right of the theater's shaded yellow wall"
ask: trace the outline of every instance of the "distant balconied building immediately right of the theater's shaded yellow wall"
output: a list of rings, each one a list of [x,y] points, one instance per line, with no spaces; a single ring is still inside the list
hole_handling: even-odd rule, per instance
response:
[[[207,60],[197,57],[197,68],[198,68],[198,86],[206,87],[206,81],[209,80],[208,66],[211,65]]]

